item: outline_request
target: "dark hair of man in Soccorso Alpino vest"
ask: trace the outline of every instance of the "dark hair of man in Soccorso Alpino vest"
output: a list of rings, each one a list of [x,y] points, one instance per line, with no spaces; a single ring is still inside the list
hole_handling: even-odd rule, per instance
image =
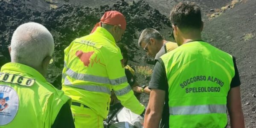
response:
[[[171,11],[170,20],[179,29],[200,29],[201,9],[194,2],[180,2]]]

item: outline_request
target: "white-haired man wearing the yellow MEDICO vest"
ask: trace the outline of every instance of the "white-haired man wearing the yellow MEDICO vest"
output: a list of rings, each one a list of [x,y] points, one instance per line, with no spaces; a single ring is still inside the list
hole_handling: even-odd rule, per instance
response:
[[[12,62],[0,71],[0,127],[74,128],[71,99],[44,76],[54,51],[51,33],[24,23],[12,36]]]

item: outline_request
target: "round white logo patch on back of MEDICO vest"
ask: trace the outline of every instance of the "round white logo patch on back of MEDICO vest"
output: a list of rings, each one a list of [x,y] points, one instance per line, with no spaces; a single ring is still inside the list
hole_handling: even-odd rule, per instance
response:
[[[0,126],[12,122],[18,108],[19,97],[16,91],[7,85],[0,85]]]

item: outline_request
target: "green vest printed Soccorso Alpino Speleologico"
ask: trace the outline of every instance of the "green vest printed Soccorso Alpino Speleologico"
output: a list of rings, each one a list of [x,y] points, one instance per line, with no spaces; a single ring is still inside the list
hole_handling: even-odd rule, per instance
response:
[[[160,58],[169,84],[169,128],[224,128],[232,56],[192,41]]]

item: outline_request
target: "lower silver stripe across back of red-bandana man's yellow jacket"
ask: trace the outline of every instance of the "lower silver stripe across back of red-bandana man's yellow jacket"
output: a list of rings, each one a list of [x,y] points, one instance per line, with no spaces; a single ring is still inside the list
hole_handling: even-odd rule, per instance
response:
[[[98,85],[72,85],[71,82],[67,79],[64,80],[64,85],[69,87],[76,87],[79,89],[93,91],[93,92],[100,92],[100,93],[108,93],[111,94],[111,91],[108,87],[98,86]]]

